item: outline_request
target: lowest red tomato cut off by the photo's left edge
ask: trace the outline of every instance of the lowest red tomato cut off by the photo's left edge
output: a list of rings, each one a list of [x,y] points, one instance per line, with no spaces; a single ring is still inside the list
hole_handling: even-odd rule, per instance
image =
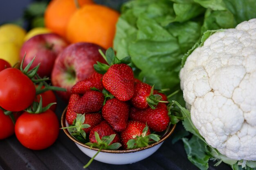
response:
[[[14,134],[14,124],[11,118],[4,115],[4,112],[0,109],[0,139],[5,139]]]

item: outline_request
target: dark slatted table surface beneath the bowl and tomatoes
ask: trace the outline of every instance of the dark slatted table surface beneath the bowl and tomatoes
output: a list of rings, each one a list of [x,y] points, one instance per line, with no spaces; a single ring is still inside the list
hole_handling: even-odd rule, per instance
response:
[[[56,114],[59,121],[66,104],[58,99]],[[61,124],[60,124],[61,126]],[[179,130],[178,124],[176,131]],[[0,170],[82,170],[90,160],[63,130],[60,130],[56,142],[44,150],[30,150],[16,139],[15,135],[0,140]],[[209,170],[231,170],[221,163],[213,166],[210,161]],[[164,144],[150,157],[137,163],[127,165],[111,165],[94,160],[88,167],[90,170],[198,170],[186,157],[182,141],[171,144],[168,138]]]

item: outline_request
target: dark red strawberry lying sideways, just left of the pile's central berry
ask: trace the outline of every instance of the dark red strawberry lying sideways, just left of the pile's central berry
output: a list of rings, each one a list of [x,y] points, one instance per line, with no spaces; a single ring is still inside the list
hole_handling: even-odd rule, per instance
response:
[[[104,102],[104,95],[99,91],[86,91],[73,107],[76,113],[93,113],[101,110]]]

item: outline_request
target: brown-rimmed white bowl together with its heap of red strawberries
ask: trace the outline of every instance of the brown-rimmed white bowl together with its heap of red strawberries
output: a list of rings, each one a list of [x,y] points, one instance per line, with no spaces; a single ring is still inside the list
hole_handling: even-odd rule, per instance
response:
[[[67,137],[92,159],[128,164],[152,155],[173,133],[178,117],[161,91],[134,77],[130,57],[117,59],[112,48],[108,64],[77,82],[61,117]]]

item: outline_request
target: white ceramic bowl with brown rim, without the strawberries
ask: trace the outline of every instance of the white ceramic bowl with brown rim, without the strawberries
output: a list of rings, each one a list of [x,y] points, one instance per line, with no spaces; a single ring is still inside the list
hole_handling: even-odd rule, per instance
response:
[[[67,121],[65,119],[66,115],[66,109],[64,110],[62,116],[61,116],[61,126],[67,127]],[[129,163],[135,163],[137,161],[141,161],[142,159],[145,159],[152,155],[164,142],[165,139],[167,139],[174,131],[176,125],[171,125],[168,129],[168,131],[162,135],[161,139],[158,142],[155,142],[153,144],[150,144],[143,148],[137,148],[137,149],[128,149],[128,150],[101,150],[99,154],[94,158],[97,161],[101,161],[104,163],[110,163],[110,164],[129,164]],[[75,142],[76,146],[85,153],[85,155],[88,155],[89,157],[93,157],[96,152],[99,150],[98,148],[92,148],[90,149],[90,146],[87,146],[80,141],[76,140],[72,135],[70,135],[70,132],[67,129],[63,129],[67,137],[69,137],[72,141]]]

